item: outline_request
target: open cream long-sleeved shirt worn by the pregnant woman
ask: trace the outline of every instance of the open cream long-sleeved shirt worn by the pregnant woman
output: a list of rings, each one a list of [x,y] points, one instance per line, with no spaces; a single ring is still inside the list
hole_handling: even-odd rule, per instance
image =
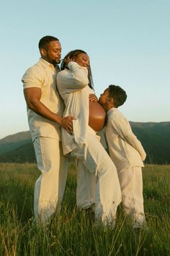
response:
[[[68,63],[69,69],[58,72],[58,91],[65,103],[63,116],[75,116],[73,120],[73,134],[62,129],[63,154],[70,153],[77,145],[86,144],[86,133],[89,129],[89,88],[88,70],[75,61]]]

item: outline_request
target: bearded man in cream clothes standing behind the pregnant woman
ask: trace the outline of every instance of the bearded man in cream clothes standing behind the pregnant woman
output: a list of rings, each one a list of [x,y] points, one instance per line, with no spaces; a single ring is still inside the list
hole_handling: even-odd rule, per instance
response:
[[[61,150],[61,127],[72,131],[73,116],[62,117],[63,102],[56,88],[56,65],[61,61],[58,38],[40,39],[41,58],[22,77],[27,116],[42,174],[35,184],[35,219],[44,222],[61,209],[68,174],[68,158]]]

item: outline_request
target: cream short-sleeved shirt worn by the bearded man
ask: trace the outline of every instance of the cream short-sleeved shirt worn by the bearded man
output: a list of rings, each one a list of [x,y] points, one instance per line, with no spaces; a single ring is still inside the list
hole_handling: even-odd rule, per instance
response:
[[[22,77],[25,88],[40,88],[40,101],[55,114],[63,115],[63,100],[56,87],[57,72],[53,64],[40,58],[34,66],[27,69]],[[28,123],[32,140],[36,137],[50,137],[61,140],[61,127],[54,121],[45,119],[27,108]]]

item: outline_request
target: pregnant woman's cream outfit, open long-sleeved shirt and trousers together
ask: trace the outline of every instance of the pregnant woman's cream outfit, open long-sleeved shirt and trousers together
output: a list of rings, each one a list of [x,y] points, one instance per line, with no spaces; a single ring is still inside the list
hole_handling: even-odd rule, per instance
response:
[[[58,73],[57,85],[66,106],[64,116],[77,118],[73,120],[72,135],[62,129],[63,153],[71,152],[79,159],[77,204],[88,208],[95,202],[96,218],[112,222],[121,201],[117,171],[96,132],[88,125],[89,93],[94,92],[88,86],[87,69],[74,61],[68,67]]]

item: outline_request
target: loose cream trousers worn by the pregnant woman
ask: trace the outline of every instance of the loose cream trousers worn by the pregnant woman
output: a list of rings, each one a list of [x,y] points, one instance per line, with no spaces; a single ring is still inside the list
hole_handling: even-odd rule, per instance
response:
[[[76,201],[79,208],[89,208],[95,203],[96,218],[105,222],[115,219],[117,205],[121,202],[120,183],[115,164],[99,142],[93,130],[88,132],[86,145],[73,150],[79,159]]]

